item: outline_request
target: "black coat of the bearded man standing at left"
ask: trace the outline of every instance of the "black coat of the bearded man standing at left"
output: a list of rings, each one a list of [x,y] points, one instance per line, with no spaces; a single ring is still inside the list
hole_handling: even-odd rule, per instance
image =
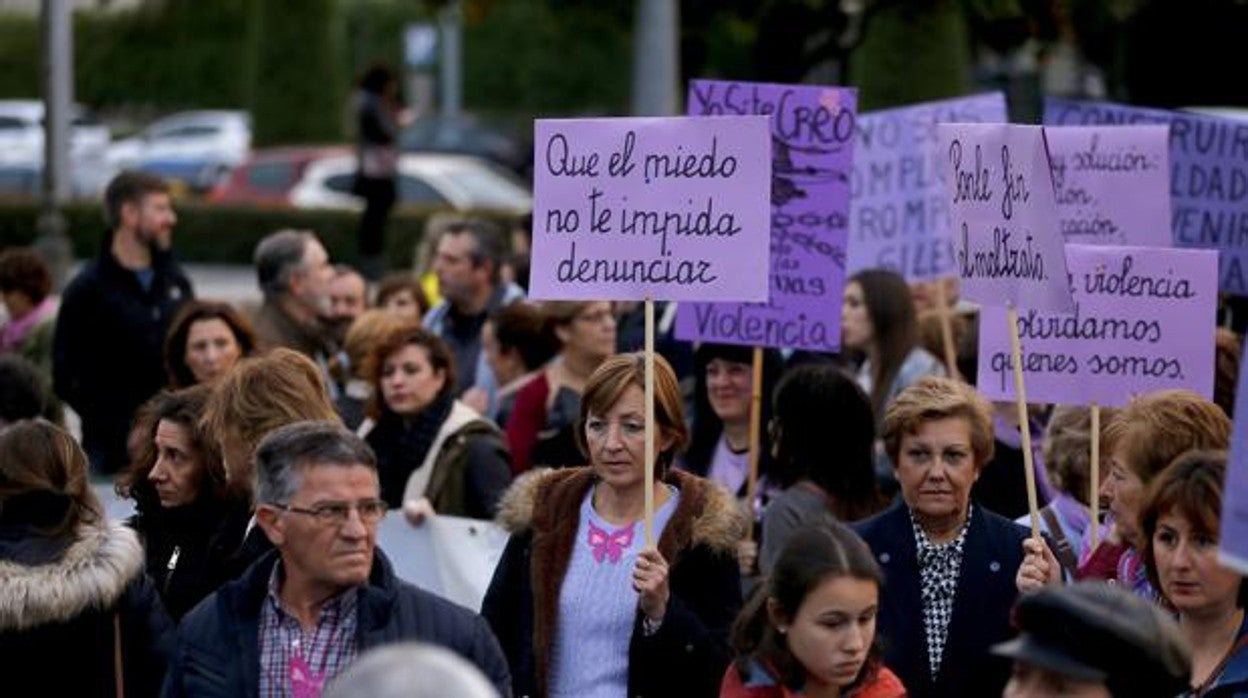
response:
[[[191,281],[168,256],[152,258],[152,285],[117,263],[107,235],[61,296],[52,343],[56,395],[82,418],[91,466],[117,472],[130,462],[126,436],[135,411],[165,387],[162,352],[170,318],[193,297]]]

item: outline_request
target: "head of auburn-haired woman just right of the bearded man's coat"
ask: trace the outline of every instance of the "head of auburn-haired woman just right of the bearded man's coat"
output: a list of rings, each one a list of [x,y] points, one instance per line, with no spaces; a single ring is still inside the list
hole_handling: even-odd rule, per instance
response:
[[[230,303],[187,301],[165,336],[168,385],[185,388],[217,380],[256,351],[256,332]]]

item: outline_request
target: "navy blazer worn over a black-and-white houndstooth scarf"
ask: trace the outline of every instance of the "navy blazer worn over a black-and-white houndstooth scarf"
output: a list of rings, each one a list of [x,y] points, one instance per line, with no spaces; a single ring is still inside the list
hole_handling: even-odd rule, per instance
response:
[[[990,648],[1015,636],[1010,623],[1028,531],[981,506],[971,509],[953,616],[940,677],[931,678],[919,561],[910,512],[897,503],[854,526],[884,569],[876,629],[884,663],[906,684],[910,698],[997,698],[1010,681],[1010,661]]]

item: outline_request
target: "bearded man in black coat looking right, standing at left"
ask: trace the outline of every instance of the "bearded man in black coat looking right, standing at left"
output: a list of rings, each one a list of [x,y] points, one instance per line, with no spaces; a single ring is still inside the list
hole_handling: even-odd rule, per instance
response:
[[[165,181],[121,172],[104,199],[111,230],[61,296],[52,377],[82,420],[91,467],[115,473],[130,462],[135,411],[165,387],[165,333],[193,291],[170,255],[177,216]]]

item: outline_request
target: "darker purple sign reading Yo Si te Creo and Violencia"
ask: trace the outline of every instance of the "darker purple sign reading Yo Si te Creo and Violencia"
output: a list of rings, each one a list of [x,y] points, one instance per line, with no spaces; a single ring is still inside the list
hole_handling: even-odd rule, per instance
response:
[[[676,337],[812,351],[840,346],[856,99],[842,87],[689,84],[691,115],[771,116],[771,297],[681,303]],[[751,261],[761,266],[766,258]]]

